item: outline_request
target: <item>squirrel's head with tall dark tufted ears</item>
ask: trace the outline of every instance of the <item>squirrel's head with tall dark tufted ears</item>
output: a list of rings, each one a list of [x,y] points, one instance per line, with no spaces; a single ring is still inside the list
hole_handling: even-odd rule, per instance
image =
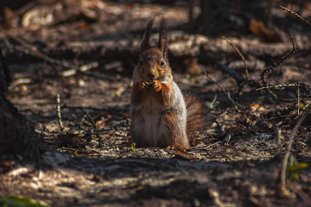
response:
[[[149,20],[146,31],[140,45],[140,59],[136,67],[137,73],[145,80],[160,80],[166,74],[171,74],[169,62],[167,59],[169,35],[166,29],[165,19],[162,17],[160,23],[158,45],[150,41],[151,28],[156,16]]]

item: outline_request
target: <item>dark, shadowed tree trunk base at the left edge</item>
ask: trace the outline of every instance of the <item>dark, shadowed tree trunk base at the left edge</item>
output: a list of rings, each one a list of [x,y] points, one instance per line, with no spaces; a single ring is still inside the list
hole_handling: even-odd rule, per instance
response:
[[[0,48],[0,160],[36,162],[37,152],[45,145],[24,116],[5,98],[11,80]]]

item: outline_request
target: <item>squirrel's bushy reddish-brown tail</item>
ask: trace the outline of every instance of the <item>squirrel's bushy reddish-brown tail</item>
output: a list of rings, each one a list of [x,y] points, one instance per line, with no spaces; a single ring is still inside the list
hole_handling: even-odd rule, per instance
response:
[[[204,130],[207,126],[209,111],[204,103],[195,94],[184,94],[187,109],[187,137],[191,141],[197,132]]]

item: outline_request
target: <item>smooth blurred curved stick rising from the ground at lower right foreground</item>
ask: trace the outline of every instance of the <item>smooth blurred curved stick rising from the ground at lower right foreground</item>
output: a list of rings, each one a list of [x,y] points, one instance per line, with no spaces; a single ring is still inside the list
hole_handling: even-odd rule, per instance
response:
[[[292,149],[292,145],[293,145],[293,141],[294,141],[294,137],[298,131],[299,126],[301,125],[301,123],[304,121],[304,119],[309,115],[310,110],[308,110],[296,123],[294,130],[292,131],[291,135],[290,135],[290,140],[288,142],[287,148],[286,148],[286,152],[284,155],[284,159],[282,162],[282,171],[281,171],[281,189],[285,189],[285,181],[286,181],[286,170],[287,170],[287,163],[288,163],[288,158],[290,156],[290,151]]]

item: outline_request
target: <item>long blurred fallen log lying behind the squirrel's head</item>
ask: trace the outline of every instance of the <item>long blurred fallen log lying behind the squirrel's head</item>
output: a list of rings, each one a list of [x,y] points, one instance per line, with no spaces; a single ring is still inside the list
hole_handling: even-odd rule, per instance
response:
[[[252,39],[238,39],[228,37],[241,52],[245,55],[252,55],[258,58],[279,57],[292,49],[289,42],[265,43]],[[299,34],[294,35],[296,48],[298,50],[311,50],[310,37]],[[98,61],[105,63],[114,61],[136,62],[139,54],[140,40],[104,40],[104,41],[71,41],[64,42],[60,46],[51,48],[44,44],[38,49],[48,57],[65,60]],[[36,46],[36,45],[34,45]],[[12,43],[0,43],[0,47],[6,55],[7,61],[16,63],[42,60],[38,55],[28,50],[24,46]],[[33,56],[33,57],[30,57]],[[202,64],[218,63],[224,58],[231,57],[240,59],[234,48],[224,39],[211,39],[202,35],[189,35],[173,33],[169,44],[169,55],[172,62],[180,61],[188,57],[198,57],[198,62]],[[18,60],[16,60],[18,57]],[[52,61],[53,62],[53,61]]]

